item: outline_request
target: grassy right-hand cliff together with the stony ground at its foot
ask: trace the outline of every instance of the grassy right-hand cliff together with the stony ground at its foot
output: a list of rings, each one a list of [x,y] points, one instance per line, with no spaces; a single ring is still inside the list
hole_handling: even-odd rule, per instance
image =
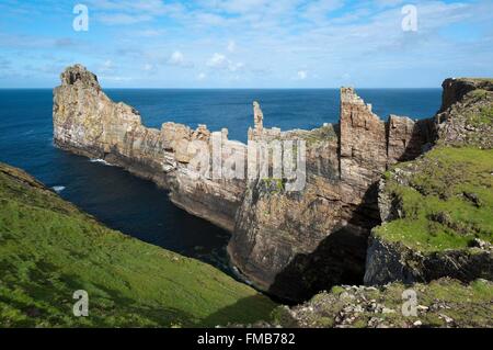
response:
[[[381,177],[366,286],[279,307],[270,326],[492,327],[493,89],[447,79],[443,106],[433,149]]]

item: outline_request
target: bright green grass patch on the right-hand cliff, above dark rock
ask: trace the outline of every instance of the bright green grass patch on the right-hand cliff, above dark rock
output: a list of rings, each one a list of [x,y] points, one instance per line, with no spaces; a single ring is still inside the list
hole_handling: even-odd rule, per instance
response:
[[[375,229],[379,237],[421,251],[493,244],[493,149],[439,146],[387,173],[386,191],[400,218]]]

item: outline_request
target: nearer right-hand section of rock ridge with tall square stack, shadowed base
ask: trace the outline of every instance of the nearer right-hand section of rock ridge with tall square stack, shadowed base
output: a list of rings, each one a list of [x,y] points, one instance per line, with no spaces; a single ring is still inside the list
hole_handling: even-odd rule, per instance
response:
[[[340,124],[333,133],[321,129],[278,136],[308,140],[307,185],[279,193],[265,181],[250,183],[228,246],[255,285],[294,302],[335,284],[363,283],[367,239],[380,223],[378,180],[389,165],[428,148],[435,124],[395,115],[386,123],[343,88]]]

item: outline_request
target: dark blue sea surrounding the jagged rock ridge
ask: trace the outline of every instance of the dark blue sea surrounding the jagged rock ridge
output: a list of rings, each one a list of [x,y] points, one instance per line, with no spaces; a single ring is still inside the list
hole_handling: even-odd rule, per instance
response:
[[[147,126],[172,121],[229,128],[245,142],[257,100],[266,126],[314,128],[339,118],[339,90],[106,90],[142,115]],[[433,116],[439,89],[358,90],[374,112]],[[91,162],[54,147],[51,90],[0,90],[0,161],[20,167],[107,226],[228,271],[229,234],[173,206],[167,193],[116,167]]]

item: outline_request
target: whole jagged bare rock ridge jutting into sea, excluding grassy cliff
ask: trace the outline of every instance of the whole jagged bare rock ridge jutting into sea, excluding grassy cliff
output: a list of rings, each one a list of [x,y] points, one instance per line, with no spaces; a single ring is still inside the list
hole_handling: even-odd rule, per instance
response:
[[[436,134],[432,118],[381,121],[349,88],[341,90],[340,124],[313,131],[264,128],[254,104],[249,139],[307,143],[307,184],[285,192],[284,179],[225,180],[191,170],[197,140],[213,147],[219,139],[221,162],[244,159],[246,145],[229,140],[227,129],[213,133],[205,125],[145,127],[136,110],[111,101],[80,65],[61,75],[54,94],[57,146],[170,190],[173,203],[232,233],[228,251],[248,279],[293,301],[363,281],[369,232],[380,223],[376,184],[389,165],[415,158]]]

